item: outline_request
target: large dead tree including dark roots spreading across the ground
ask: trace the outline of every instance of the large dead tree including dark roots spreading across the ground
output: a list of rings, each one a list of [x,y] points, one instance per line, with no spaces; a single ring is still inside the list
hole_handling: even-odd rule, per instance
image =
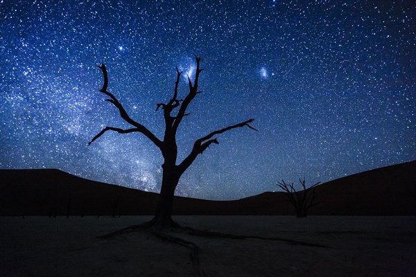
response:
[[[198,258],[198,251],[199,247],[194,242],[190,240],[186,240],[184,238],[177,237],[173,235],[174,233],[168,233],[170,230],[168,227],[175,227],[177,231],[181,231],[186,233],[187,235],[199,235],[204,237],[211,237],[211,238],[231,238],[236,240],[244,240],[246,238],[255,238],[260,240],[272,240],[278,242],[284,242],[288,244],[297,244],[297,245],[305,245],[309,247],[327,247],[321,244],[311,244],[309,242],[298,242],[295,240],[286,240],[282,238],[264,238],[259,237],[257,235],[232,235],[227,233],[219,233],[219,232],[211,232],[211,231],[201,231],[192,229],[189,227],[179,226],[176,222],[174,222],[171,218],[172,215],[172,205],[173,205],[173,195],[175,193],[176,186],[180,180],[180,177],[184,174],[184,172],[191,166],[193,161],[202,154],[207,148],[209,148],[212,144],[218,144],[218,140],[216,136],[223,134],[232,129],[236,129],[239,127],[248,127],[250,129],[254,129],[250,125],[254,119],[245,120],[241,123],[235,125],[229,125],[227,127],[223,127],[222,129],[217,129],[214,132],[207,134],[206,136],[202,136],[200,139],[197,139],[193,143],[193,148],[188,156],[183,161],[177,161],[177,143],[176,143],[176,134],[177,129],[182,122],[184,116],[188,116],[189,113],[187,112],[187,108],[189,104],[192,102],[194,98],[200,93],[198,91],[198,80],[202,69],[200,69],[200,57],[196,58],[196,73],[193,82],[191,78],[188,76],[188,84],[189,84],[189,93],[185,98],[180,99],[178,98],[178,87],[180,82],[180,76],[182,72],[176,69],[176,81],[175,81],[175,89],[173,91],[173,97],[166,103],[159,103],[156,106],[156,111],[161,109],[164,114],[164,136],[163,139],[158,139],[157,136],[150,132],[148,128],[144,125],[141,125],[137,121],[130,118],[127,111],[125,111],[123,105],[116,99],[116,97],[107,91],[108,86],[108,77],[107,77],[107,70],[105,69],[105,65],[101,64],[98,66],[101,71],[103,71],[104,77],[104,84],[103,88],[100,90],[109,98],[107,99],[108,102],[112,103],[117,109],[119,109],[120,116],[125,120],[127,123],[132,125],[130,129],[121,129],[118,127],[110,127],[107,126],[101,130],[92,141],[89,142],[89,145],[94,142],[96,139],[101,137],[107,131],[114,131],[121,134],[132,133],[132,132],[139,132],[146,136],[150,141],[152,141],[156,147],[162,153],[162,157],[164,158],[164,163],[162,164],[162,188],[159,194],[159,200],[157,203],[157,208],[155,211],[155,216],[153,217],[150,222],[145,222],[144,224],[132,225],[128,226],[124,229],[114,231],[112,233],[107,233],[106,235],[101,235],[98,238],[112,238],[116,235],[122,235],[123,233],[130,233],[134,231],[141,231],[146,230],[153,233],[157,238],[160,238],[166,242],[172,242],[175,244],[180,244],[183,247],[187,247],[191,250],[190,258],[191,258],[191,265],[195,271],[196,276],[206,276],[205,272],[200,267],[200,262]],[[257,131],[256,129],[254,129]]]

